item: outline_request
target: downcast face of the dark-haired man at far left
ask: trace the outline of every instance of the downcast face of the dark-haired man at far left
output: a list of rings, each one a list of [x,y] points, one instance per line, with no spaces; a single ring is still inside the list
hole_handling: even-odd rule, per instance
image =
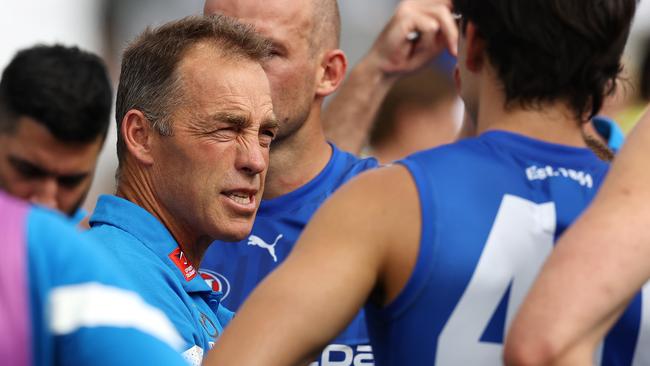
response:
[[[0,187],[35,204],[72,215],[92,183],[103,138],[60,141],[38,121],[21,116],[0,134]]]

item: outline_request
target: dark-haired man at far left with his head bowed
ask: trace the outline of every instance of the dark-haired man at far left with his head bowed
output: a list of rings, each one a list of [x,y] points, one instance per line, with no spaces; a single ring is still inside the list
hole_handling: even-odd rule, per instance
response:
[[[112,97],[92,53],[62,45],[18,52],[0,81],[0,187],[81,221]]]

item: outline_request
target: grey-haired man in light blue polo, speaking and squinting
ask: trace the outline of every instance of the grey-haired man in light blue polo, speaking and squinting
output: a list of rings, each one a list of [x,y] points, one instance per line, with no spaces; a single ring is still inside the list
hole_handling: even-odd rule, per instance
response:
[[[232,313],[198,275],[216,239],[251,230],[277,131],[260,60],[270,44],[224,16],[148,29],[125,50],[117,91],[116,195],[88,235],[162,309],[201,363]]]

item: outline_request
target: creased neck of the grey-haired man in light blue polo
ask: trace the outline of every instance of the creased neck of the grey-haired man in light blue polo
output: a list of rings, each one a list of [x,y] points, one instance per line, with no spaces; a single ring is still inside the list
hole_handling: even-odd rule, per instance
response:
[[[189,225],[184,225],[179,222],[179,218],[173,217],[156,199],[152,187],[152,180],[146,172],[137,168],[129,169],[127,164],[121,172],[116,195],[142,207],[160,221],[174,237],[190,263],[198,268],[213,240],[197,237],[188,230]]]

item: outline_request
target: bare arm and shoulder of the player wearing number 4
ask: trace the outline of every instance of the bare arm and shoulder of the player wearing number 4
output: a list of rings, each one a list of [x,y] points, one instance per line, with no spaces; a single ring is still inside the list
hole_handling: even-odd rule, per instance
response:
[[[397,237],[417,241],[419,231],[412,229],[418,220],[404,210],[419,214],[415,186],[403,167],[366,173],[341,188],[316,213],[287,261],[246,301],[207,364],[312,360],[381,286],[380,273],[390,271],[389,251],[402,244]],[[415,233],[402,235],[400,228]]]

